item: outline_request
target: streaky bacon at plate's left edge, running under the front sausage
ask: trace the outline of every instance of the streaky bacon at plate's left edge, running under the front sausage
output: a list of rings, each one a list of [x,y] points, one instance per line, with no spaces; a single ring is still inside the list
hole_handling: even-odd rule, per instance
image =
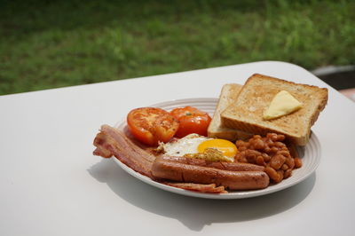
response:
[[[104,158],[114,156],[130,167],[130,169],[154,180],[151,169],[155,156],[152,153],[148,153],[141,146],[135,144],[121,130],[104,124],[101,126],[100,132],[96,135],[93,144],[96,146],[93,154]],[[216,186],[215,184],[160,183],[201,193],[227,193],[224,186]]]

